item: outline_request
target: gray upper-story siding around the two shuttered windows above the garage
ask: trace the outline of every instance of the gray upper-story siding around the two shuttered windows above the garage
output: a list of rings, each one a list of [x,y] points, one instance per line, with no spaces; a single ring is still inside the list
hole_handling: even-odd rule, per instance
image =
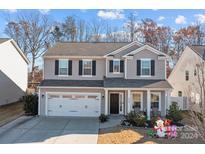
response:
[[[96,75],[92,77],[83,77],[79,75],[79,60],[72,60],[72,75],[70,76],[58,76],[55,75],[55,59],[44,59],[44,79],[59,79],[59,80],[102,80],[105,75],[105,59],[96,60]],[[94,60],[94,59],[93,59]]]

